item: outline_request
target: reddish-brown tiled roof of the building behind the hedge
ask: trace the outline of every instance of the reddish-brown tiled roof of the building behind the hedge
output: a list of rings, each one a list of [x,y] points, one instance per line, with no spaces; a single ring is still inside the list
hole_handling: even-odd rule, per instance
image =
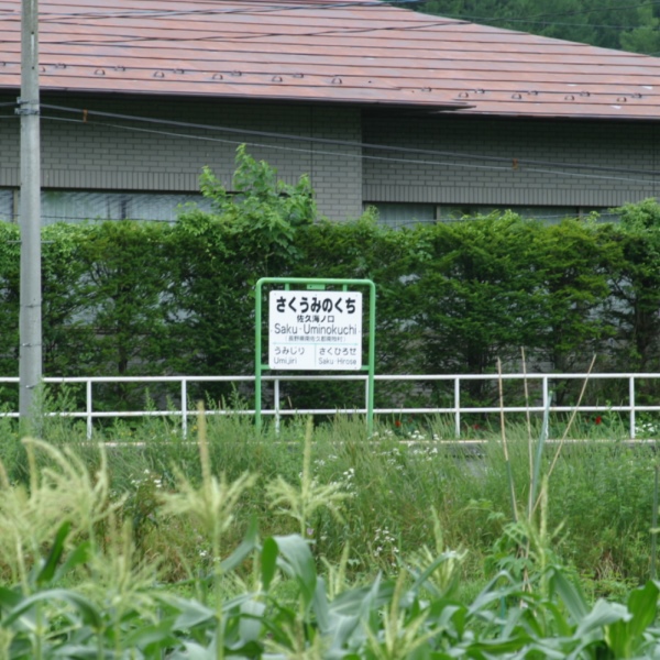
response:
[[[0,0],[0,89],[20,85]],[[47,90],[660,118],[660,58],[350,0],[40,0]]]

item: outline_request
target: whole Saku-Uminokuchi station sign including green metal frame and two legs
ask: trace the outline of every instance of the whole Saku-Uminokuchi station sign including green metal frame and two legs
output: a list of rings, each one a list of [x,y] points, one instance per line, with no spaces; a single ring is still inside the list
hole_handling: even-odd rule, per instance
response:
[[[264,285],[280,287],[271,294],[279,293],[270,312],[274,309],[282,315],[283,322],[275,324],[275,332],[282,341],[276,344],[279,355],[268,355],[268,364],[263,362],[262,346],[262,302]],[[293,287],[293,288],[292,288]],[[327,287],[333,287],[328,290]],[[369,288],[369,351],[366,364],[362,355],[362,297],[351,298],[355,287]],[[340,289],[337,290],[337,288]],[[316,293],[315,293],[316,292]],[[350,319],[353,322],[343,322]],[[254,340],[254,414],[257,430],[262,428],[262,375],[271,369],[296,370],[356,370],[367,372],[366,429],[371,436],[374,427],[374,372],[375,372],[375,328],[376,287],[371,279],[336,279],[307,277],[262,277],[256,283],[256,318]],[[356,318],[360,317],[360,318]],[[292,322],[285,322],[292,319]],[[342,319],[338,322],[337,319]],[[272,322],[273,319],[270,318]],[[270,337],[272,340],[273,337]],[[273,341],[271,341],[271,344]]]

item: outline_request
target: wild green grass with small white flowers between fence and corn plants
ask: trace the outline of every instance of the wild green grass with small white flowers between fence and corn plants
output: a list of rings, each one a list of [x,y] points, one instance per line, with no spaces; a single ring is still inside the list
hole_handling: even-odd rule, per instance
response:
[[[507,460],[498,428],[491,432],[482,427],[481,444],[475,446],[443,442],[453,429],[443,418],[406,420],[403,426],[395,421],[399,420],[377,421],[371,438],[361,419],[340,416],[314,428],[309,479],[345,497],[341,516],[319,508],[302,529],[299,521],[273,509],[270,484],[276,480],[300,484],[307,419],[290,419],[279,433],[272,426],[256,433],[249,416],[209,415],[206,435],[212,472],[229,481],[244,473],[255,475],[254,487],[238,503],[241,513],[230,542],[240,542],[254,516],[264,534],[305,532],[316,556],[330,561],[339,561],[349,544],[349,571],[370,574],[396,565],[397,558],[428,542],[433,526],[429,512],[435,510],[446,542],[470,551],[464,570],[477,582],[487,580],[484,560],[499,551],[494,544],[513,519],[509,476],[521,509],[530,496],[527,424],[507,425]],[[0,458],[9,479],[26,482],[23,447],[8,425],[0,430]],[[99,432],[101,440],[111,441],[106,451],[112,496],[125,498],[124,514],[133,520],[141,548],[173,556],[172,579],[180,578],[184,564],[195,563],[205,549],[182,521],[156,526],[154,512],[158,493],[176,487],[177,474],[190,483],[202,480],[193,441],[198,431],[191,422],[190,438],[184,441],[173,418]],[[538,437],[540,425],[532,424],[531,432]],[[45,433],[52,446],[75,449],[90,470],[98,469],[98,452],[87,443],[82,426],[57,421]],[[549,470],[556,447],[550,443],[541,455],[540,474]],[[38,461],[46,466],[50,458]],[[546,514],[549,529],[559,530],[554,551],[596,594],[620,593],[650,575],[654,462],[652,444],[566,439],[554,463]]]

